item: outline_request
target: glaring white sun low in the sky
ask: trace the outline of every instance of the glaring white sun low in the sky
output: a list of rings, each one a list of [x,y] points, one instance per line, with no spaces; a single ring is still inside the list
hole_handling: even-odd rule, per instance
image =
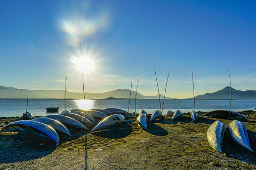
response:
[[[76,65],[78,71],[84,71],[84,73],[89,73],[94,70],[94,62],[89,57],[71,57],[71,62]]]

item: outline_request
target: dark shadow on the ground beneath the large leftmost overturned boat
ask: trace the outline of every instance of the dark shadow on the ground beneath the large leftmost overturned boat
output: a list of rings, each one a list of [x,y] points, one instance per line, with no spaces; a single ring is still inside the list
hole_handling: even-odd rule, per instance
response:
[[[25,133],[0,133],[0,164],[42,158],[56,149],[56,143],[45,137]]]

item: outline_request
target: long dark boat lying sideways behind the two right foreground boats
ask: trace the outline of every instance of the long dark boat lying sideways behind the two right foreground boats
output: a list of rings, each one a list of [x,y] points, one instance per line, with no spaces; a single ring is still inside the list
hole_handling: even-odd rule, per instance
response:
[[[217,118],[223,118],[223,119],[237,119],[237,120],[243,120],[248,122],[248,118],[245,117],[245,115],[230,111],[229,117],[228,117],[229,111],[210,111],[204,114],[205,117],[217,117]]]

